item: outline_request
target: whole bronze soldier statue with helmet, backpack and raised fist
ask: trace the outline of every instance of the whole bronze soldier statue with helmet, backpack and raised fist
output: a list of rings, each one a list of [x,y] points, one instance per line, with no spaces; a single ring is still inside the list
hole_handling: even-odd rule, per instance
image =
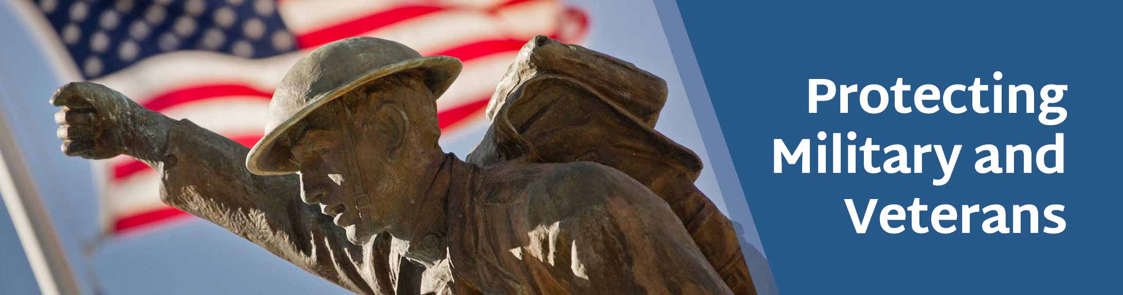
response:
[[[135,157],[162,200],[362,294],[755,294],[701,162],[652,127],[666,83],[530,40],[460,160],[436,100],[460,71],[378,38],[290,70],[252,149],[75,82],[52,103],[63,153]]]

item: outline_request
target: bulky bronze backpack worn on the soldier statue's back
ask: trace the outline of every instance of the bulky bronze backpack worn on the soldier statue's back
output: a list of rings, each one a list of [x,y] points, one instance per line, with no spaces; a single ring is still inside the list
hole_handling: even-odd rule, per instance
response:
[[[539,36],[500,82],[468,162],[595,162],[667,201],[736,294],[756,294],[732,224],[694,185],[702,162],[654,129],[666,82],[630,63]]]

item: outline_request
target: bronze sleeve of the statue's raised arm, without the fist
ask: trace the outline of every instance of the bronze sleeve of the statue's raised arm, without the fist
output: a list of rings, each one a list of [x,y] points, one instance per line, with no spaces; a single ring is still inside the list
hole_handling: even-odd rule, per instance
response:
[[[296,175],[250,174],[248,151],[191,121],[176,122],[164,159],[154,167],[162,176],[161,200],[346,289],[394,294],[389,237],[351,245],[344,229],[300,201]]]

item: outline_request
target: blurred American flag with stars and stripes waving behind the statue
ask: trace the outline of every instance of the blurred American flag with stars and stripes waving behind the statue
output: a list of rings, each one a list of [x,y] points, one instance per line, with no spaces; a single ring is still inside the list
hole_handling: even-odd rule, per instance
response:
[[[374,36],[464,62],[437,101],[444,133],[485,120],[495,84],[535,35],[578,43],[586,15],[554,0],[17,0],[64,76],[253,146],[289,67],[332,40]],[[27,17],[35,15],[35,17]],[[39,18],[42,16],[42,18]],[[120,234],[186,214],[158,175],[127,156],[95,162],[102,221]]]

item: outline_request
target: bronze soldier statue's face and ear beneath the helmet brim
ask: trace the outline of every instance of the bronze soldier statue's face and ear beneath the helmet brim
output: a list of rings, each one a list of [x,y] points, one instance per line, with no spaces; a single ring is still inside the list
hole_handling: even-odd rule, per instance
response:
[[[412,98],[418,95],[426,98]],[[436,138],[411,132],[409,111],[386,96],[432,101],[426,89],[356,90],[317,110],[312,116],[323,120],[290,147],[300,164],[301,199],[319,204],[355,245],[384,231],[405,234],[431,177],[419,165],[428,148],[422,142],[436,147]]]

